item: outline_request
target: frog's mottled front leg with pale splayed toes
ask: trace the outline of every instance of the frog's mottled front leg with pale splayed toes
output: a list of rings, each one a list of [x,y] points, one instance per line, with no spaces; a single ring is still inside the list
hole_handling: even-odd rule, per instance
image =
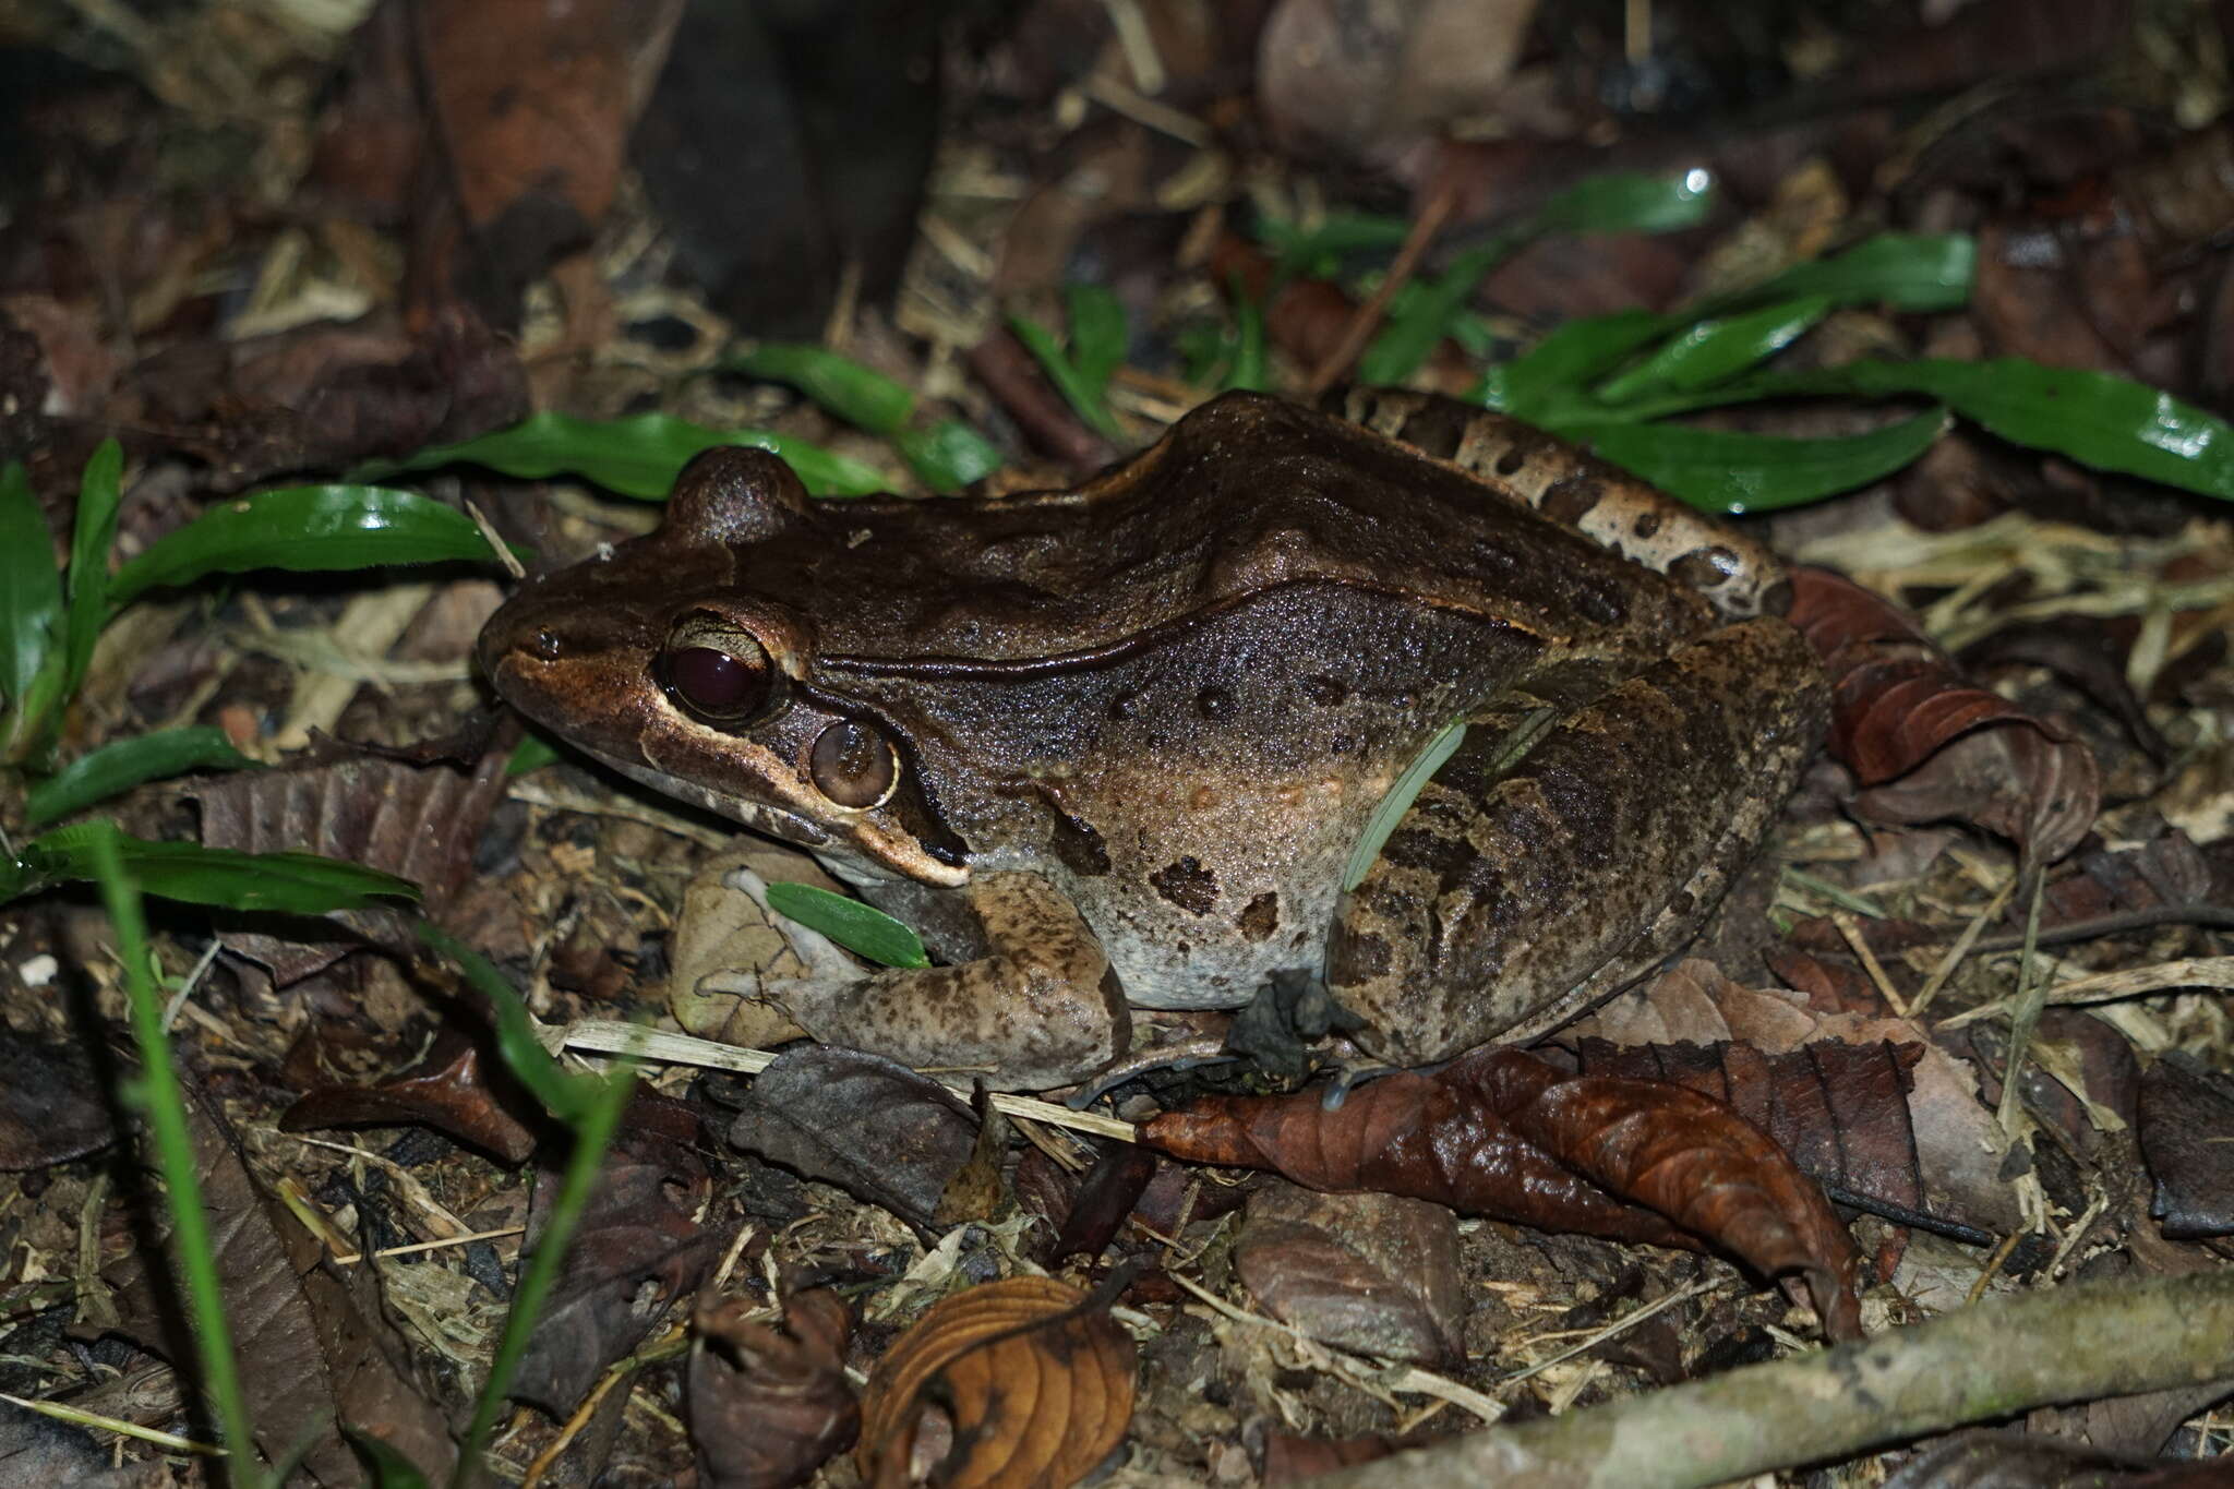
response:
[[[731,882],[766,902],[751,871]],[[978,875],[965,893],[987,951],[974,962],[869,969],[784,920],[806,973],[739,973],[724,991],[780,1007],[824,1045],[983,1076],[999,1092],[1070,1085],[1117,1058],[1130,1018],[1077,909],[1030,873]]]

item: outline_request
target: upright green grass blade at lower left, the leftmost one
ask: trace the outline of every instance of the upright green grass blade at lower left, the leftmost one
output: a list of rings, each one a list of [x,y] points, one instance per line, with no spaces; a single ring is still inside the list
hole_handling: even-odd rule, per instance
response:
[[[223,1281],[217,1275],[217,1248],[210,1241],[210,1217],[201,1208],[201,1170],[194,1163],[194,1139],[188,1132],[185,1096],[170,1065],[170,1040],[163,1034],[163,998],[147,976],[147,920],[141,893],[125,871],[118,851],[123,833],[116,824],[94,824],[105,833],[87,837],[92,871],[116,931],[116,955],[123,960],[125,1002],[132,1011],[132,1038],[139,1045],[141,1074],[127,1094],[147,1118],[156,1165],[163,1172],[170,1210],[170,1252],[179,1284],[194,1313],[194,1348],[201,1357],[201,1384],[217,1411],[226,1444],[226,1473],[237,1489],[264,1482],[257,1467],[255,1426],[248,1420],[248,1397],[232,1357],[232,1326],[226,1319]]]

